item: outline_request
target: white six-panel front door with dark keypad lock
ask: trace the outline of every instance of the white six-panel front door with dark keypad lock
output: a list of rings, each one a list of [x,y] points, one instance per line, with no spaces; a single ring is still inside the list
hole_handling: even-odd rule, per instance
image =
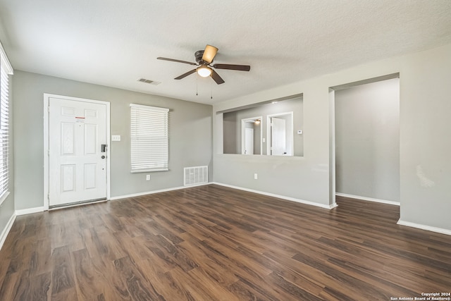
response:
[[[106,105],[49,97],[49,207],[106,199]]]

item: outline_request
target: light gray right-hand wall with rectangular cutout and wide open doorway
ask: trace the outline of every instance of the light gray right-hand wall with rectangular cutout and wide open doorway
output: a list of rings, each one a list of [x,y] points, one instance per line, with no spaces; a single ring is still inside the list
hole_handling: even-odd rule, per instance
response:
[[[329,88],[400,74],[400,219],[451,231],[451,44],[338,73],[273,87],[214,105],[214,180],[218,183],[304,199],[335,202],[330,168],[333,121]],[[262,100],[303,94],[304,156],[223,154],[222,111]],[[259,173],[258,180],[253,174]]]

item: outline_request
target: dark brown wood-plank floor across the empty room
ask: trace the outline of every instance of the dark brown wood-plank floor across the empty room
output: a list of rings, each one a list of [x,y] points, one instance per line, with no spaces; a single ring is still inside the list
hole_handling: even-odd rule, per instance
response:
[[[218,185],[18,216],[0,300],[390,300],[451,290],[451,237],[399,207]],[[395,299],[391,299],[395,300]]]

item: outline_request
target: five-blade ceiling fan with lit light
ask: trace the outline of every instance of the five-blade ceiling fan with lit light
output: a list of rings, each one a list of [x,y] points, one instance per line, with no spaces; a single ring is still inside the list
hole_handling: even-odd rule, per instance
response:
[[[207,76],[210,76],[213,78],[213,80],[216,82],[216,84],[221,85],[224,83],[224,80],[221,78],[221,76],[216,73],[215,70],[213,70],[211,67],[216,69],[228,69],[228,70],[239,70],[239,71],[249,71],[251,70],[251,66],[247,65],[232,65],[230,63],[213,63],[213,59],[216,56],[216,53],[218,52],[218,49],[211,45],[206,45],[204,50],[196,51],[194,54],[194,58],[196,59],[197,63],[192,63],[190,61],[180,61],[176,59],[168,59],[168,58],[162,58],[158,57],[156,59],[163,60],[163,61],[175,61],[177,63],[187,63],[193,66],[199,66],[193,70],[188,71],[187,73],[183,73],[182,75],[178,76],[177,78],[174,78],[174,80],[181,80],[182,78],[187,77],[188,75],[197,72],[200,76],[203,78],[206,78]]]

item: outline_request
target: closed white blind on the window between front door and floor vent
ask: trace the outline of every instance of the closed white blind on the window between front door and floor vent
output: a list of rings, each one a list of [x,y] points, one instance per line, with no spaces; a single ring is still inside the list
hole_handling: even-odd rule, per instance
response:
[[[130,104],[132,173],[168,171],[168,112]]]

